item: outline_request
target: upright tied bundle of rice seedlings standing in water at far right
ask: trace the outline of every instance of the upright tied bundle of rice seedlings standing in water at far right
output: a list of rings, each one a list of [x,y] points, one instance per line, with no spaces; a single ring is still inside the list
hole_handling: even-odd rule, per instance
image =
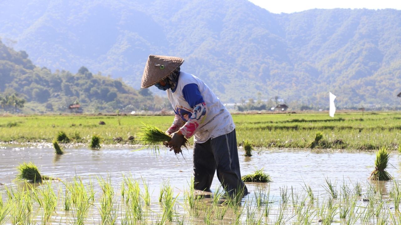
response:
[[[371,180],[379,180],[379,181],[388,181],[391,180],[391,175],[385,171],[388,166],[390,159],[390,151],[387,146],[383,146],[379,148],[379,151],[376,153],[375,160],[375,170],[371,173],[369,179]]]

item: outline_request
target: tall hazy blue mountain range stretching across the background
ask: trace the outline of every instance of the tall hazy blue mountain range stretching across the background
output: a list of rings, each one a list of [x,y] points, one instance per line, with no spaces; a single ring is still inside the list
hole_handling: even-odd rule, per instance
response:
[[[3,42],[39,66],[85,65],[138,89],[148,55],[164,54],[184,58],[182,70],[225,102],[260,93],[326,106],[331,91],[339,107],[399,105],[399,10],[273,14],[246,0],[6,0],[0,24]]]

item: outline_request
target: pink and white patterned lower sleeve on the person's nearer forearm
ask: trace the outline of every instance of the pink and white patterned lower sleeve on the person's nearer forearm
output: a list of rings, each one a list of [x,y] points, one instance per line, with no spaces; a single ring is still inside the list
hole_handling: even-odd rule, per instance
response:
[[[201,125],[205,123],[207,111],[208,110],[205,102],[194,106],[192,116],[188,119],[184,126],[180,128],[181,133],[186,139],[192,137],[192,135],[194,135],[196,131],[202,127]]]

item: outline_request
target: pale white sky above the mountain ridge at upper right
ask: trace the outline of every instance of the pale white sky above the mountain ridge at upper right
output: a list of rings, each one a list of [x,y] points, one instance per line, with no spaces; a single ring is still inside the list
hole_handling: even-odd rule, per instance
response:
[[[301,12],[308,9],[322,8],[367,8],[401,10],[401,0],[249,0],[253,4],[272,13]]]

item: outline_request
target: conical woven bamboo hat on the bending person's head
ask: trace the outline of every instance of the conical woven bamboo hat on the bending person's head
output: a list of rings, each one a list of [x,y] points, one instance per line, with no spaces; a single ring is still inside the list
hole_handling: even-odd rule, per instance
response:
[[[141,88],[148,88],[164,80],[183,62],[184,59],[178,57],[150,55],[142,75]]]

